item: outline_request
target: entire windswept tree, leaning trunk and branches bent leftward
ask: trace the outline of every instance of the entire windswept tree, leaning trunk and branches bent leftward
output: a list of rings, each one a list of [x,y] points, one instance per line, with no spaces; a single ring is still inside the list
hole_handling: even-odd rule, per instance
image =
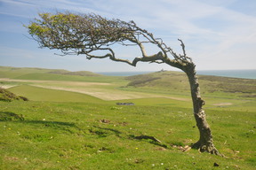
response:
[[[179,68],[188,75],[199,140],[192,148],[220,155],[212,142],[212,132],[203,110],[204,100],[200,96],[196,77],[196,65],[187,56],[185,45],[180,40],[182,52],[178,54],[161,38],[156,38],[133,21],[106,19],[97,14],[74,14],[70,12],[41,13],[26,26],[28,33],[41,48],[60,50],[62,55],[85,55],[86,58],[109,58],[136,66],[139,62],[165,63]],[[116,58],[113,45],[138,46],[141,57],[132,60]],[[159,52],[148,55],[147,44],[155,45]],[[112,47],[112,48],[111,48]],[[100,52],[98,52],[100,51]]]

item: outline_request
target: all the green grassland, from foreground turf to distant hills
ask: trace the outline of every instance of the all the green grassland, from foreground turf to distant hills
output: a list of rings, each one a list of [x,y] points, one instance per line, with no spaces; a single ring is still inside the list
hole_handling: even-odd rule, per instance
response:
[[[0,66],[0,86],[29,99],[0,101],[0,169],[255,169],[256,80],[199,75],[199,82],[225,157],[183,150],[198,139],[183,73]]]

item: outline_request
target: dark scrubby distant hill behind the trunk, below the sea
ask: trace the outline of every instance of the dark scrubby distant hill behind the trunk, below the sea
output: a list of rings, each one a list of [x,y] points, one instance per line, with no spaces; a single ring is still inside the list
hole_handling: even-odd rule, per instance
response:
[[[148,89],[166,89],[189,91],[188,78],[181,72],[156,72],[133,75],[125,78],[130,81],[127,86]],[[198,75],[202,92],[244,93],[246,97],[256,97],[256,80],[220,77],[213,75]]]

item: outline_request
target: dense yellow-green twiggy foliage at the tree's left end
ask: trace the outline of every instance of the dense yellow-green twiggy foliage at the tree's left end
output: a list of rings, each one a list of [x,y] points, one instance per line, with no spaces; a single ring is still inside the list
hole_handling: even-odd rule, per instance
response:
[[[41,47],[62,51],[97,50],[97,45],[120,42],[131,36],[128,24],[96,14],[40,13],[28,26],[28,33]],[[93,48],[92,48],[93,47]],[[79,53],[78,52],[78,53]]]

